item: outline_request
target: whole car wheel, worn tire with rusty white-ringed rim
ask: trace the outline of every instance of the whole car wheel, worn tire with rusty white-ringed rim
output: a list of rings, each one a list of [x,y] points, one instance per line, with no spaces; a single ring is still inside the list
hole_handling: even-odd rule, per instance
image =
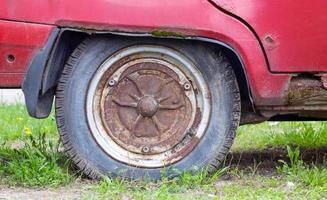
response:
[[[90,37],[56,92],[65,149],[92,178],[212,172],[232,145],[240,95],[222,51],[196,41]]]

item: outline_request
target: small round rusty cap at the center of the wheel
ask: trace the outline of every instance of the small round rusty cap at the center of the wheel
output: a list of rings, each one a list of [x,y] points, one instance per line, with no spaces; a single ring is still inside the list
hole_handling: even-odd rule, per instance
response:
[[[152,117],[158,110],[158,102],[151,96],[144,96],[138,102],[137,110],[144,117]]]

